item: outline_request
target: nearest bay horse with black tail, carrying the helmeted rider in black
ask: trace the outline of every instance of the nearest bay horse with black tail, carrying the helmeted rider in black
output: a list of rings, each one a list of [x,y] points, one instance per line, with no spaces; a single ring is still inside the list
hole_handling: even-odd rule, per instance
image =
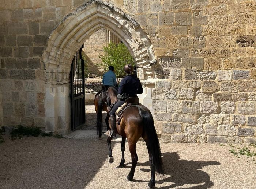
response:
[[[116,102],[117,92],[113,87],[109,87],[107,91],[107,103],[108,105]],[[139,110],[140,109],[140,110]],[[147,145],[149,161],[151,163],[151,178],[148,183],[148,188],[155,187],[155,171],[157,171],[157,176],[164,177],[165,170],[163,168],[161,149],[157,137],[157,133],[154,127],[154,120],[150,111],[143,105],[128,107],[123,114],[120,125],[116,125],[117,134],[121,135],[121,151],[122,158],[119,164],[120,167],[124,167],[124,151],[125,151],[125,140],[127,138],[129,151],[131,153],[132,167],[127,175],[127,180],[131,181],[134,176],[135,167],[137,165],[138,156],[136,153],[136,143],[139,138],[142,137]],[[140,113],[141,112],[141,113]],[[112,137],[108,137],[108,147],[109,147],[109,162],[113,163],[114,158],[112,156],[111,149]]]

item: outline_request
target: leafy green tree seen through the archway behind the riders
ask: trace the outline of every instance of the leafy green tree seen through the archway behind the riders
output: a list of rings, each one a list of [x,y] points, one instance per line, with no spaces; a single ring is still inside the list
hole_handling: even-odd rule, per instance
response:
[[[104,55],[100,56],[102,60],[101,66],[105,71],[108,70],[109,66],[114,66],[117,83],[119,84],[120,79],[126,75],[124,72],[124,66],[126,64],[132,64],[134,66],[133,57],[123,43],[116,45],[110,42],[108,47],[103,47],[103,51]]]

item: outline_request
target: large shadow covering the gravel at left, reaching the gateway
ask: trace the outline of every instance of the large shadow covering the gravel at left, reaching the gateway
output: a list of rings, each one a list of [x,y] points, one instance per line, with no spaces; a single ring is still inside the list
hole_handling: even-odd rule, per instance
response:
[[[40,136],[12,141],[8,135],[3,135],[0,188],[85,188],[108,157],[106,139],[99,140],[96,135],[96,113],[88,113],[86,118],[86,126],[82,129],[93,133],[93,137],[80,140]],[[105,130],[106,125],[103,127]],[[116,143],[112,141],[112,147]]]

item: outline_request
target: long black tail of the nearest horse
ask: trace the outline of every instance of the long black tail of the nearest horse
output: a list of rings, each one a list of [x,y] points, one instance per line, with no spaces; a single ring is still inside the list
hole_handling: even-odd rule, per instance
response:
[[[161,158],[161,149],[157,137],[157,132],[155,131],[154,119],[150,111],[141,109],[142,112],[142,121],[143,121],[143,130],[147,135],[148,150],[152,154],[152,161],[155,170],[157,171],[157,176],[165,177],[165,170],[163,168],[163,162]]]

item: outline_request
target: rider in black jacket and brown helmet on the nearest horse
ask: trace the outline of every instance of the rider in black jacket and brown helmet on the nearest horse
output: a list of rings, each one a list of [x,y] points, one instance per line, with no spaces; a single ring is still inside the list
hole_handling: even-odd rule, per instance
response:
[[[133,66],[131,64],[127,64],[124,66],[124,71],[127,76],[121,80],[120,87],[118,88],[118,99],[119,101],[113,106],[112,110],[110,110],[110,123],[111,123],[111,137],[116,137],[116,110],[118,107],[123,105],[124,101],[128,97],[137,97],[137,94],[141,94],[143,92],[142,85],[140,83],[139,78],[133,74]]]

